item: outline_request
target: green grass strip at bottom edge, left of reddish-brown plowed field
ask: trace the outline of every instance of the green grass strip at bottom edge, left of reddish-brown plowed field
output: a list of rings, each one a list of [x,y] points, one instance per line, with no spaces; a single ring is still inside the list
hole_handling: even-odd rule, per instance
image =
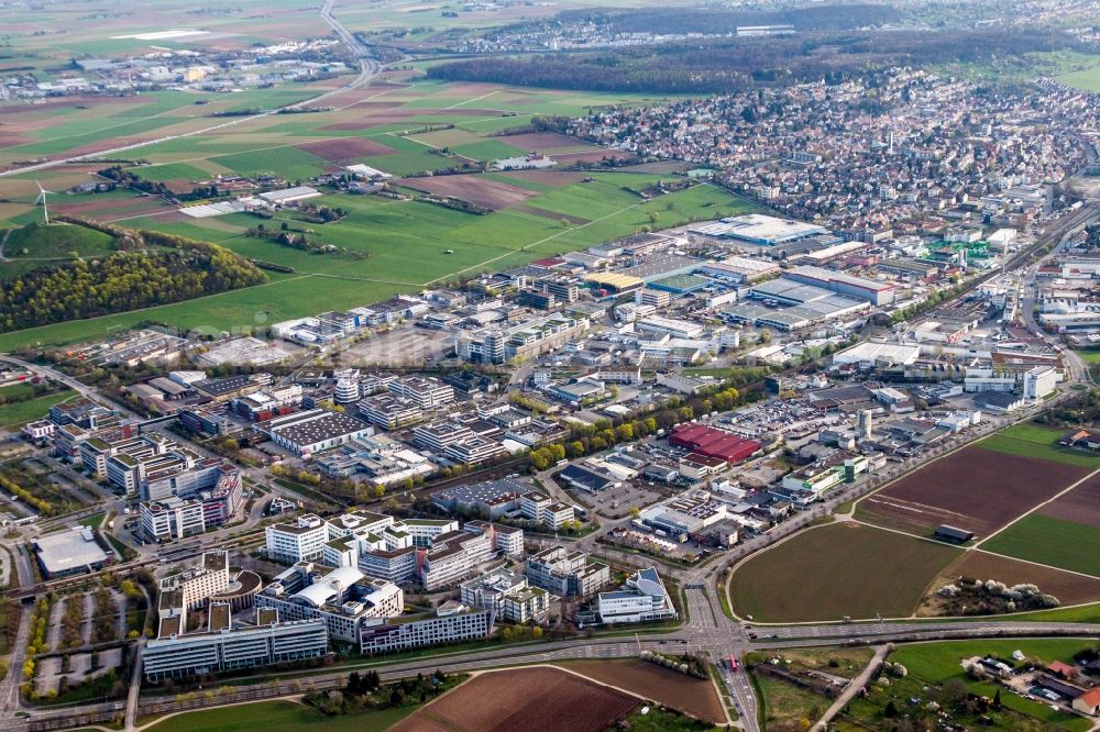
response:
[[[148,729],[154,732],[251,732],[271,727],[307,732],[382,732],[416,709],[415,706],[408,706],[360,714],[326,717],[311,707],[292,701],[260,701],[177,714]]]

